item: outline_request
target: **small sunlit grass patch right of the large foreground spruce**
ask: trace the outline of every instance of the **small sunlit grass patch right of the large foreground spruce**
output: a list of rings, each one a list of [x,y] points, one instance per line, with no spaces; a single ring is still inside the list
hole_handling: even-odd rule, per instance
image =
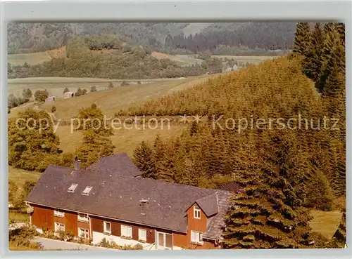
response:
[[[314,232],[319,232],[327,239],[331,239],[341,221],[341,211],[310,211],[313,220],[309,225]]]

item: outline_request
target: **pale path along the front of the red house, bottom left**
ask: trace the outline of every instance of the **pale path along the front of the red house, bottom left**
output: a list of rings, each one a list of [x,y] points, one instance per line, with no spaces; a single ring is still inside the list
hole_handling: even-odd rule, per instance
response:
[[[80,251],[92,251],[108,249],[118,251],[117,249],[105,248],[100,246],[88,246],[84,244],[77,244],[73,242],[65,242],[61,240],[46,239],[44,237],[34,238],[31,241],[42,244],[44,250],[80,250]]]

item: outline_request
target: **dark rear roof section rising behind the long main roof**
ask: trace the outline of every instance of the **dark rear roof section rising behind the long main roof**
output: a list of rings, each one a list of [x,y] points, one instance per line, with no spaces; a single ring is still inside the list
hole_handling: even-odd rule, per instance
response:
[[[137,176],[141,174],[141,171],[139,171],[126,153],[102,157],[94,164],[91,164],[87,169],[98,172],[118,173],[126,176]]]

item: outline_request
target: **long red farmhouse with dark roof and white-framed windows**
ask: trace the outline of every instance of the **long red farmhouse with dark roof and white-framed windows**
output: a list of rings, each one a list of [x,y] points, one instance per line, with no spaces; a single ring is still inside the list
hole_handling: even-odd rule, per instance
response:
[[[145,249],[221,248],[223,215],[232,197],[212,190],[142,178],[125,153],[86,169],[50,165],[26,199],[30,223]]]

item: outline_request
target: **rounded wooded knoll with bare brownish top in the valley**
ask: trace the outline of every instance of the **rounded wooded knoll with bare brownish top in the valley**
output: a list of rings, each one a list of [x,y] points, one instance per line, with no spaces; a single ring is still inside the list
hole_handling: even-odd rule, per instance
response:
[[[150,48],[129,44],[118,36],[79,36],[66,42],[65,55],[38,65],[8,64],[8,78],[96,77],[111,79],[149,79],[189,77],[222,71],[222,61],[207,57],[196,65],[151,55]]]

